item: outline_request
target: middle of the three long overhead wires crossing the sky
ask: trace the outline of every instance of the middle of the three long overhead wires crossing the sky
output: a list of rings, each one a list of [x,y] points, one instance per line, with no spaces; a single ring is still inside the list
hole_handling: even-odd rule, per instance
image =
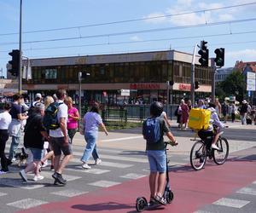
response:
[[[131,31],[131,32],[114,32],[114,33],[90,35],[90,36],[84,36],[84,37],[79,36],[79,37],[52,38],[52,39],[47,39],[47,40],[27,41],[27,42],[23,42],[23,43],[47,43],[47,42],[58,42],[58,41],[77,40],[77,39],[95,38],[95,37],[117,37],[117,36],[129,35],[129,34],[173,31],[173,30],[188,29],[188,28],[195,28],[195,27],[202,27],[202,26],[219,26],[219,25],[225,25],[225,24],[231,24],[231,23],[241,23],[241,22],[254,21],[254,20],[256,20],[256,18],[243,19],[243,20],[218,21],[218,22],[212,22],[212,23],[207,23],[207,24],[204,23],[204,24],[196,24],[196,25],[188,25],[188,26],[172,26],[172,27],[165,27],[165,28],[154,28],[154,29]],[[0,43],[0,45],[3,46],[3,45],[11,45],[11,44],[16,44],[16,43],[17,42],[15,42],[15,43],[13,43],[13,42],[12,43]]]

